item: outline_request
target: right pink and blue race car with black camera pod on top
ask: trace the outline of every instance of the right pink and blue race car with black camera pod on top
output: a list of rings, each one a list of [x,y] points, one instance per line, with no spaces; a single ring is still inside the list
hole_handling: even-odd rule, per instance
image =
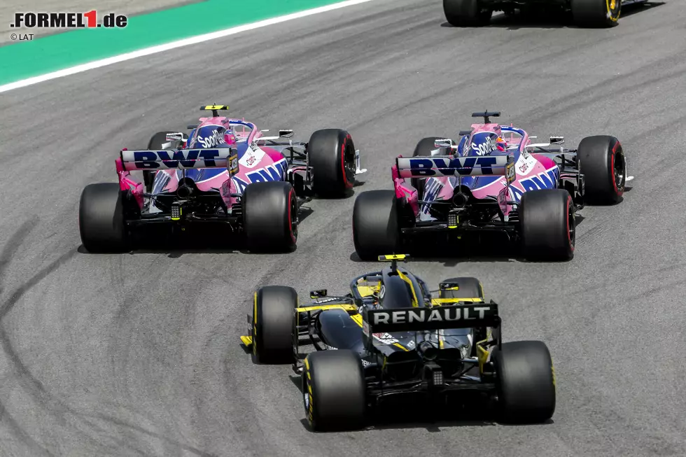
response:
[[[473,113],[484,123],[460,132],[459,143],[422,139],[412,157],[395,159],[394,190],[360,193],[353,241],[361,259],[407,250],[422,235],[442,252],[458,241],[482,248],[487,234],[504,234],[529,260],[573,258],[575,213],[620,202],[632,179],[622,145],[604,135],[575,150],[561,136],[532,143],[524,130],[491,122],[499,115]]]

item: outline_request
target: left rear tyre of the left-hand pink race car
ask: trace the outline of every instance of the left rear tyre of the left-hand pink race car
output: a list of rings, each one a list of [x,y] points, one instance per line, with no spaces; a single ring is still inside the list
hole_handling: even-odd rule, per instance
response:
[[[78,204],[81,244],[90,253],[128,250],[123,192],[119,183],[89,184]]]

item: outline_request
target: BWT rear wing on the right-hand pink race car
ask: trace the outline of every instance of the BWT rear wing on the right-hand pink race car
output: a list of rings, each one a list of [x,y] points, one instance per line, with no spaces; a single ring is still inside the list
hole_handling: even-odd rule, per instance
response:
[[[514,181],[514,157],[511,155],[397,157],[395,164],[400,178],[507,176],[508,183]]]

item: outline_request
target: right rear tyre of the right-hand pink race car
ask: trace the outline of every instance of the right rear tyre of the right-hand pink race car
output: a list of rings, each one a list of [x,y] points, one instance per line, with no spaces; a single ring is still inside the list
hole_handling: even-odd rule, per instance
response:
[[[574,257],[576,224],[572,197],[563,189],[529,190],[519,202],[521,246],[528,260]]]

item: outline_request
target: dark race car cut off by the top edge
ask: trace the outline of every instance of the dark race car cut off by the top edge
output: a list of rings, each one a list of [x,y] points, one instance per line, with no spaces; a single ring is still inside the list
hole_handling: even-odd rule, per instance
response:
[[[547,10],[571,13],[578,27],[605,28],[617,25],[622,6],[647,0],[443,0],[443,13],[455,27],[479,27],[491,21],[493,11],[507,15],[514,10]]]

